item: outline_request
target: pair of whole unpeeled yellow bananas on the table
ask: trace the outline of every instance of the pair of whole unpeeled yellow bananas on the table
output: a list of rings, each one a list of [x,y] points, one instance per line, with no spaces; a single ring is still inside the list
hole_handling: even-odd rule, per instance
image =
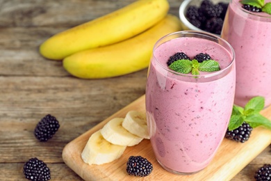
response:
[[[117,77],[147,68],[155,42],[181,30],[167,0],[138,0],[90,22],[52,36],[40,54],[63,60],[82,79]]]

